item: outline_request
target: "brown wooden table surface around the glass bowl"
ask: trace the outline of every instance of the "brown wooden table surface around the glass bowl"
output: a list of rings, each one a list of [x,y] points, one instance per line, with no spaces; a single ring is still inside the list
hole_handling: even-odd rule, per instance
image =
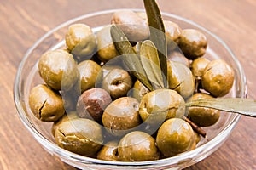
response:
[[[221,37],[241,61],[248,98],[256,92],[255,0],[159,0],[162,11],[194,20]],[[44,33],[81,14],[108,8],[143,8],[143,0],[0,1],[0,169],[74,169],[49,155],[20,122],[13,102],[18,65]],[[188,169],[256,169],[256,120],[242,117],[212,156]]]

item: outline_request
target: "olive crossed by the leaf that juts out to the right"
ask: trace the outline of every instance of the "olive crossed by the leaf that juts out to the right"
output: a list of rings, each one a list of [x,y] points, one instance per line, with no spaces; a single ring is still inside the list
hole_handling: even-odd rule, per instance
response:
[[[196,99],[212,99],[209,94],[197,93],[194,94],[188,101]],[[188,117],[192,122],[198,126],[208,127],[218,122],[220,111],[205,107],[190,107]]]

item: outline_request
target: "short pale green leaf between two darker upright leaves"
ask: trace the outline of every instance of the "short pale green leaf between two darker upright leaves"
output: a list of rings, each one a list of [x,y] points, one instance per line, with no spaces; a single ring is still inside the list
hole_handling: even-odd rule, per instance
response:
[[[153,42],[146,40],[142,43],[140,57],[148,79],[153,82],[154,89],[165,88],[158,52]]]

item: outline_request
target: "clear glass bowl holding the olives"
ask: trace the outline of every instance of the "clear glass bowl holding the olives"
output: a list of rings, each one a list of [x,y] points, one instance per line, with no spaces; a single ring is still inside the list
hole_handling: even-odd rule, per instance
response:
[[[203,160],[212,152],[218,150],[225,139],[228,138],[240,115],[224,113],[218,123],[212,127],[206,127],[207,139],[201,139],[195,150],[184,152],[178,156],[162,159],[159,161],[142,162],[122,162],[122,161],[102,161],[85,156],[79,156],[67,150],[61,149],[55,144],[55,139],[51,134],[51,123],[41,122],[35,116],[28,105],[28,95],[30,90],[37,84],[43,83],[38,75],[37,62],[41,54],[47,50],[61,48],[65,45],[64,35],[69,25],[74,23],[85,23],[97,31],[104,25],[108,25],[113,12],[120,9],[100,11],[93,14],[85,14],[73,20],[57,26],[41,37],[32,48],[30,48],[24,59],[20,63],[19,70],[15,78],[14,98],[17,111],[25,127],[32,133],[45,150],[53,156],[59,157],[61,161],[81,169],[182,169],[189,167],[198,161]],[[132,9],[137,12],[144,12],[143,9]],[[162,13],[164,20],[172,20],[184,28],[195,28],[203,32],[208,39],[207,58],[224,59],[235,71],[235,83],[228,94],[229,97],[246,98],[247,86],[246,77],[236,56],[232,54],[230,48],[217,36],[207,31],[202,26],[191,20],[184,19],[175,14]]]

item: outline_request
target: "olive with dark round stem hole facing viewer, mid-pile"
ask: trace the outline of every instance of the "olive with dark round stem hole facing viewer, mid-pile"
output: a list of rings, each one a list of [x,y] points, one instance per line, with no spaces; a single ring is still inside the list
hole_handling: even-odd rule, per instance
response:
[[[132,79],[123,69],[113,69],[103,77],[102,88],[109,92],[113,99],[125,96],[132,88]]]

